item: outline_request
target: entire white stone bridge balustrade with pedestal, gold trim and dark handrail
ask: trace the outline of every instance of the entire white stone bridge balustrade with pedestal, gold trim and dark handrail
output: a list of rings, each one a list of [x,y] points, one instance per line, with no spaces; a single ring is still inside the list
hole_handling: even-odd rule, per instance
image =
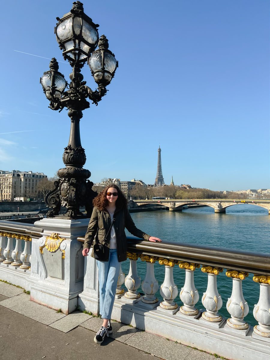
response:
[[[42,219],[32,226],[0,222],[0,247],[4,249],[0,278],[30,291],[32,302],[61,309],[66,315],[78,307],[98,314],[98,269],[92,257],[81,254],[87,223],[87,219],[61,218]],[[180,242],[149,243],[130,237],[127,256],[130,270],[126,276],[120,270],[113,319],[227,359],[269,359],[269,254]],[[142,282],[138,261],[145,264]],[[154,277],[155,263],[164,269],[161,285]],[[223,269],[231,288],[228,318],[219,314],[223,304],[217,277]],[[202,305],[194,285],[200,270],[208,279]],[[175,283],[175,271],[183,272],[183,284]],[[254,328],[245,320],[249,308],[242,290],[249,274],[254,287],[260,289]],[[138,292],[140,285],[143,293]],[[156,297],[158,290],[163,301]]]

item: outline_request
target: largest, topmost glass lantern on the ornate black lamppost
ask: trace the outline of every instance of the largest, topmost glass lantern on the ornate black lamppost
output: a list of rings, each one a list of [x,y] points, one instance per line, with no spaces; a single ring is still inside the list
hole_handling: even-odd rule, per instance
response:
[[[98,24],[84,13],[80,1],[73,3],[69,13],[64,15],[55,27],[56,40],[63,50],[65,59],[85,62],[98,44]]]

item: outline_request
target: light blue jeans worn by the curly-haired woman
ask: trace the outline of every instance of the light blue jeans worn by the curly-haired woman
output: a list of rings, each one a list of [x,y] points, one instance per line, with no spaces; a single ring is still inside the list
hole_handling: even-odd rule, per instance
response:
[[[103,319],[111,319],[120,266],[116,249],[110,249],[109,261],[98,261],[99,313]]]

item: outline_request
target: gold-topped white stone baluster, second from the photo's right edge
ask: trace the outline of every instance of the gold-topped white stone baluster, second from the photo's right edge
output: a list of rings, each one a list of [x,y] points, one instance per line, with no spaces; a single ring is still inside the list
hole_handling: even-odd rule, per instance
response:
[[[250,325],[246,323],[244,317],[247,316],[249,308],[243,296],[242,281],[248,273],[236,270],[227,270],[226,276],[233,279],[233,289],[231,297],[228,298],[226,308],[231,318],[227,320],[224,329],[246,335]]]

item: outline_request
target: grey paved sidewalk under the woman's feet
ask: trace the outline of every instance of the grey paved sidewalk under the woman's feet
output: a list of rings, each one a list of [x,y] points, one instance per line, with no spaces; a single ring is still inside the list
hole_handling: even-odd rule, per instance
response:
[[[65,315],[30,301],[23,289],[0,281],[0,349],[5,360],[215,360],[189,346],[113,322],[113,334],[94,342],[102,319]]]

